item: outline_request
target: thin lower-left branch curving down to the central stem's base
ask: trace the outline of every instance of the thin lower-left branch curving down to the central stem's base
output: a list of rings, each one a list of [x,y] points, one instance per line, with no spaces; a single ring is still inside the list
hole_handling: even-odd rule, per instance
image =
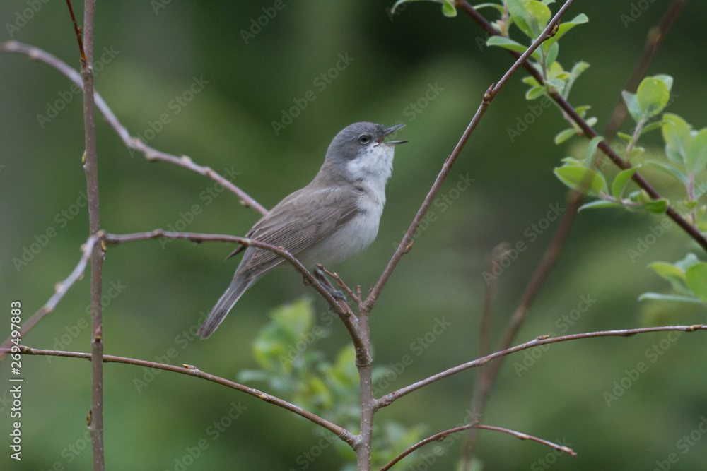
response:
[[[25,355],[49,355],[49,356],[53,356],[53,357],[69,357],[69,358],[83,358],[83,359],[90,359],[90,357],[91,357],[90,353],[83,353],[83,352],[62,352],[59,350],[40,350],[40,349],[35,349],[35,348],[30,348],[30,347],[25,347],[25,346],[20,346],[19,349],[20,349],[19,352],[16,352],[16,353],[21,353],[21,354],[25,354]],[[8,348],[0,349],[0,353],[2,353],[2,354],[7,354],[8,352],[10,352],[10,349],[8,349]],[[148,362],[146,360],[141,360],[141,359],[127,358],[127,357],[116,357],[115,355],[103,355],[103,362],[104,363],[132,364],[135,366],[144,366],[145,368],[163,369],[165,371],[173,371],[175,373],[186,374],[187,376],[195,376],[197,378],[205,379],[206,381],[211,381],[212,383],[221,384],[222,386],[227,386],[228,388],[239,390],[243,393],[252,395],[255,398],[258,398],[260,400],[264,400],[266,403],[270,403],[270,404],[276,405],[278,407],[282,407],[285,410],[289,410],[290,412],[294,412],[295,414],[300,415],[301,417],[304,417],[305,419],[308,419],[311,422],[314,422],[315,424],[320,425],[321,427],[324,427],[325,429],[334,432],[334,434],[336,434],[341,440],[345,441],[346,443],[349,443],[349,445],[353,445],[353,443],[356,441],[356,436],[354,436],[354,434],[351,434],[350,431],[344,429],[343,427],[339,427],[339,425],[337,425],[337,424],[329,422],[327,419],[323,419],[322,417],[319,417],[318,415],[312,414],[312,412],[309,412],[308,410],[304,410],[301,407],[298,407],[294,404],[288,403],[286,400],[282,400],[280,398],[277,398],[274,395],[263,393],[261,390],[257,390],[255,388],[249,388],[248,386],[244,386],[243,384],[235,383],[235,381],[230,381],[228,379],[221,378],[219,376],[214,376],[213,374],[205,373],[204,371],[201,371],[192,365],[176,366],[176,365],[171,365],[171,364]]]

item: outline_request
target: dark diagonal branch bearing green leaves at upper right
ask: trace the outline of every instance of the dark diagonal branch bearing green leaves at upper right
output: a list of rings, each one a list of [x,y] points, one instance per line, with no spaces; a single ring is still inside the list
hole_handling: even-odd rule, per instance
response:
[[[486,18],[481,16],[478,11],[474,9],[473,6],[471,6],[467,0],[457,0],[456,3],[457,8],[460,8],[464,13],[467,13],[469,17],[471,17],[474,21],[479,23],[481,25],[481,28],[484,28],[486,32],[489,32],[490,35],[498,35],[498,32],[493,29],[491,26],[491,23],[489,23]],[[514,51],[508,51],[509,54],[511,54],[514,57],[520,57],[520,54],[518,52]],[[525,70],[532,75],[535,80],[538,81],[539,84],[545,85],[545,81],[542,78],[542,73],[540,73],[537,68],[532,66],[531,64],[522,64],[522,66],[525,68]],[[596,131],[592,129],[592,126],[587,124],[587,121],[585,121],[580,115],[575,112],[575,109],[572,107],[572,105],[569,104],[567,100],[562,97],[559,93],[557,93],[556,90],[551,89],[548,91],[549,97],[551,97],[552,100],[556,102],[556,104],[563,110],[564,113],[568,116],[569,119],[571,119],[577,126],[582,130],[583,135],[588,138],[592,139],[597,137]],[[614,162],[614,165],[617,165],[617,167],[621,169],[628,169],[631,168],[631,164],[629,162],[626,162],[623,160],[617,153],[614,152],[614,150],[609,146],[606,140],[603,140],[599,143],[599,148],[602,150],[602,152],[609,157],[609,160]],[[633,181],[638,184],[638,186],[641,186],[642,189],[645,190],[646,193],[650,196],[650,198],[655,199],[660,199],[660,193],[658,191],[655,191],[653,186],[651,186],[648,181],[645,181],[643,177],[641,177],[638,172],[633,174]],[[672,206],[668,206],[666,212],[668,217],[670,217],[674,222],[681,227],[684,232],[686,232],[692,239],[694,239],[705,251],[707,251],[707,239],[699,232],[699,230],[690,225],[689,222],[684,220],[684,218],[675,211]]]

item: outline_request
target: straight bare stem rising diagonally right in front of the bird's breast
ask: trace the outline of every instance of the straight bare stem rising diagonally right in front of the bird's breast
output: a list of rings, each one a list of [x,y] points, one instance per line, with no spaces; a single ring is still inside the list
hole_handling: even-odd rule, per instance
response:
[[[556,27],[557,23],[559,23],[559,20],[561,19],[563,13],[567,10],[567,8],[569,8],[573,1],[574,0],[567,0],[565,2],[565,4],[559,9],[556,15],[552,18],[552,20],[550,20],[550,22],[547,24],[547,27],[544,29],[544,31],[540,33],[540,35],[537,37],[537,40],[534,40],[534,42],[530,45],[530,47],[526,49],[525,52],[523,52],[523,54],[518,54],[518,59],[515,61],[515,64],[513,64],[513,66],[511,66],[508,71],[503,74],[503,77],[501,77],[501,80],[498,81],[498,83],[496,83],[495,85],[491,85],[491,87],[489,87],[489,90],[486,90],[486,93],[484,93],[484,97],[481,100],[481,105],[479,105],[479,108],[477,109],[476,114],[474,114],[472,121],[469,122],[469,126],[467,126],[466,131],[464,131],[464,134],[462,134],[462,138],[460,138],[460,141],[457,143],[455,149],[445,160],[444,165],[442,166],[442,169],[440,170],[440,173],[437,176],[437,179],[435,180],[434,184],[432,185],[432,188],[430,189],[420,209],[415,215],[409,229],[407,229],[407,232],[405,232],[405,235],[402,238],[402,241],[400,241],[398,248],[395,250],[395,254],[393,254],[392,258],[390,259],[390,262],[388,262],[387,266],[385,267],[385,270],[383,270],[383,273],[380,275],[378,282],[375,283],[373,290],[371,290],[370,294],[368,294],[368,297],[364,302],[364,307],[368,311],[370,311],[370,309],[373,309],[375,302],[380,296],[380,292],[385,286],[387,280],[390,278],[390,275],[392,275],[393,270],[395,270],[395,267],[400,261],[400,258],[402,258],[402,256],[404,254],[407,254],[407,251],[409,251],[409,247],[412,243],[413,234],[422,222],[422,219],[427,213],[427,210],[430,208],[430,205],[432,204],[434,198],[437,196],[437,193],[439,192],[442,184],[444,183],[450,170],[452,169],[452,165],[454,165],[454,162],[456,162],[457,157],[459,157],[460,153],[462,152],[464,145],[469,140],[469,136],[472,135],[474,129],[476,129],[477,127],[477,124],[479,124],[479,120],[491,104],[491,100],[496,97],[496,94],[498,94],[501,88],[503,88],[503,85],[508,82],[510,77],[513,76],[513,73],[515,73],[518,68],[520,68],[521,66],[525,66],[526,68],[530,67],[525,63],[526,59],[530,57],[530,54],[532,54],[532,52],[534,52],[534,50],[537,49],[540,44],[542,44],[545,40],[552,36],[554,28]]]

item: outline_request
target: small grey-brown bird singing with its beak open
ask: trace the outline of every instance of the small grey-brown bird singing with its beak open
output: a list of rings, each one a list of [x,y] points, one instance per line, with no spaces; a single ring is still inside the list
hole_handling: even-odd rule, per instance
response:
[[[333,266],[366,249],[378,234],[393,148],[407,142],[384,139],[402,126],[363,122],[344,128],[312,183],[280,201],[245,237],[283,246],[308,269],[315,263]],[[228,257],[243,249],[239,246]],[[228,290],[199,328],[201,338],[214,333],[243,292],[281,261],[270,251],[248,246]]]

